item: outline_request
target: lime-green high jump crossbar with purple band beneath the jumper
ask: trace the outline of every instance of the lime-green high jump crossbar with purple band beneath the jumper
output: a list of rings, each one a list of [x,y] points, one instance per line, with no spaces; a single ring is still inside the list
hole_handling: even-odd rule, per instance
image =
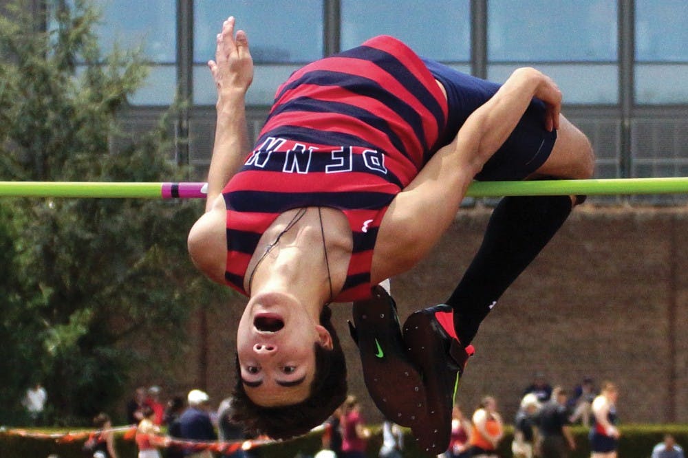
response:
[[[206,192],[206,183],[195,182],[0,182],[0,197],[203,199]],[[688,177],[473,182],[466,195],[500,197],[681,193],[688,193]]]

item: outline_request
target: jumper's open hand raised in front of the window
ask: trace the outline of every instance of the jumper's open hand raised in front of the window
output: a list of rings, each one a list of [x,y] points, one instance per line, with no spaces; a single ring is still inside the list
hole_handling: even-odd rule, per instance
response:
[[[236,90],[246,92],[253,80],[253,61],[246,32],[238,30],[235,35],[234,25],[234,17],[224,21],[222,32],[217,34],[215,61],[208,61],[219,98]]]

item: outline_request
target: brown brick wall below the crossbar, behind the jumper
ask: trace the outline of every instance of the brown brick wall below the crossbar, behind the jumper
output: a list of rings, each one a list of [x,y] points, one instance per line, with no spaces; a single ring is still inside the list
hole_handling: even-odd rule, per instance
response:
[[[431,256],[393,280],[402,320],[447,297],[477,250],[489,214],[462,210]],[[569,388],[590,375],[619,384],[622,422],[688,422],[687,271],[688,208],[577,209],[483,323],[459,402],[470,412],[482,395],[495,395],[510,421],[535,371]],[[229,393],[233,323],[244,300],[228,302],[211,307],[205,324],[195,314],[185,364],[168,392],[204,386],[217,402]],[[349,306],[335,305],[334,315],[350,389],[364,400],[367,418],[377,421],[348,336]]]

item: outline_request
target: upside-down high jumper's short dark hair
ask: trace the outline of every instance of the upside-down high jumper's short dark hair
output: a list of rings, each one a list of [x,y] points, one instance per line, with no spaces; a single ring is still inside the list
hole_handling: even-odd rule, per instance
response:
[[[323,424],[327,417],[344,402],[347,394],[346,361],[334,327],[332,311],[327,305],[320,314],[320,324],[332,336],[332,350],[315,343],[315,375],[310,395],[290,406],[264,407],[255,404],[241,383],[239,356],[236,358],[237,383],[234,388],[233,421],[243,424],[250,435],[268,435],[273,439],[308,433]]]

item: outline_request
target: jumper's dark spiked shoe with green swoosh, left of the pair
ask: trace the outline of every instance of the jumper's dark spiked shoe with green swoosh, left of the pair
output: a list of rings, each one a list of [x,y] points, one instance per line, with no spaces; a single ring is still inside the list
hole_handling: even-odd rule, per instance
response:
[[[414,426],[427,416],[420,371],[407,355],[396,303],[383,287],[352,308],[351,336],[358,346],[363,380],[380,412],[400,426]]]

